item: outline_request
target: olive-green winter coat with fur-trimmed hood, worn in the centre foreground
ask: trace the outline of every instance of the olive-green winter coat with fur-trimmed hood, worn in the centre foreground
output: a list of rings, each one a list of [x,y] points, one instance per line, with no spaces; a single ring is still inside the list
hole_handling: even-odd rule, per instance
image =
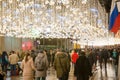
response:
[[[54,68],[56,70],[58,78],[61,78],[64,73],[67,74],[70,71],[70,61],[65,53],[63,52],[56,53],[54,60]]]

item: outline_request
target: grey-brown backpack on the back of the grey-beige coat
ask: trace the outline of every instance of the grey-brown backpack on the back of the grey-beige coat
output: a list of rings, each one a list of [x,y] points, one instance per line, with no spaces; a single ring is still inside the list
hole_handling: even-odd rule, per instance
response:
[[[36,68],[37,68],[38,71],[44,71],[44,69],[45,69],[44,57],[38,58],[38,60],[37,60],[37,67]]]

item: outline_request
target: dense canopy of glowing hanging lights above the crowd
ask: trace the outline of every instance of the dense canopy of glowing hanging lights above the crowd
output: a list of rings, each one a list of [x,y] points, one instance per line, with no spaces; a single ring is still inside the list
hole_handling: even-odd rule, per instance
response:
[[[0,0],[0,34],[22,38],[108,36],[108,16],[98,0]]]

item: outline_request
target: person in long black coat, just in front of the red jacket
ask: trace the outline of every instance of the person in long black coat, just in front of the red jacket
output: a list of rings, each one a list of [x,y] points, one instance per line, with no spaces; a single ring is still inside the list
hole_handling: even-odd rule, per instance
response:
[[[85,56],[85,52],[81,52],[76,61],[74,75],[77,77],[77,80],[89,80],[89,76],[92,75],[91,66],[88,58]]]

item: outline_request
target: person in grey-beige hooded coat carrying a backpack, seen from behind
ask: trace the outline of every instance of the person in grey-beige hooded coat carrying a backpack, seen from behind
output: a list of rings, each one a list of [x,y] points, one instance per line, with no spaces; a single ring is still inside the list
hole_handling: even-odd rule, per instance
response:
[[[48,66],[47,56],[40,51],[35,58],[36,80],[46,80]]]

